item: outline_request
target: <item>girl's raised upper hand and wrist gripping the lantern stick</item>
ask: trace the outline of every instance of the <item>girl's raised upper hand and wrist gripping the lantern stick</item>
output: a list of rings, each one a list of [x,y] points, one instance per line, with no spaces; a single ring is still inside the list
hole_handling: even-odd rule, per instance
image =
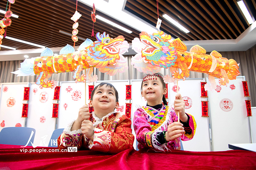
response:
[[[178,111],[179,111],[180,120],[182,122],[187,122],[188,116],[185,114],[185,101],[182,99],[180,93],[176,94],[173,105],[174,105],[174,111],[176,115],[178,115]]]

